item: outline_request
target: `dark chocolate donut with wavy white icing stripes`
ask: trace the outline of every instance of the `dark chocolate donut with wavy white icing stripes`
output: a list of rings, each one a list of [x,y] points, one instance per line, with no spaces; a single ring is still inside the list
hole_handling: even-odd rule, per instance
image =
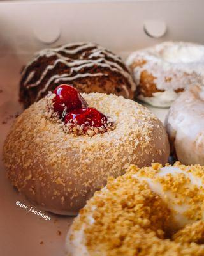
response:
[[[80,92],[115,93],[129,99],[136,89],[119,56],[98,44],[78,42],[35,54],[22,70],[20,102],[27,108],[62,83]]]

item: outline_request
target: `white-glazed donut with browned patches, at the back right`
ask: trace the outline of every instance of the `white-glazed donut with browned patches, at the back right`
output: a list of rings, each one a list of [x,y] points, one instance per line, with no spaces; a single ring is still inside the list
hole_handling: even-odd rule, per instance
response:
[[[126,63],[136,97],[156,107],[169,107],[186,88],[204,81],[204,45],[163,42],[133,52]]]

